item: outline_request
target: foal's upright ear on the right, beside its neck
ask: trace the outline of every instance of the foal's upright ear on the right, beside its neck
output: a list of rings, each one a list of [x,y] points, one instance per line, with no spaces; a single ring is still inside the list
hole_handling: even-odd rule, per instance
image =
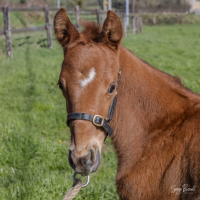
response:
[[[106,41],[114,47],[118,47],[123,37],[120,18],[111,10],[107,12],[107,18],[103,24],[103,32]]]

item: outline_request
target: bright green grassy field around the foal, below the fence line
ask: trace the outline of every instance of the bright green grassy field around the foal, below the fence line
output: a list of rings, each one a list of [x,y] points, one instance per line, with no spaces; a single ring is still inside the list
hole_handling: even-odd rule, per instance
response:
[[[0,200],[62,199],[72,185],[67,155],[70,133],[65,100],[56,85],[63,59],[46,33],[13,35],[14,58],[6,57],[0,38]],[[123,44],[142,59],[200,92],[200,27],[144,27],[144,33],[124,38]],[[117,159],[109,139],[97,173],[77,200],[118,199]]]

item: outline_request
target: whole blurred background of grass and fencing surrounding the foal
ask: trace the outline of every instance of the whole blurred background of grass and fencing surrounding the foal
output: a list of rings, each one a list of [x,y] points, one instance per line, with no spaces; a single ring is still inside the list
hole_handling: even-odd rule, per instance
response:
[[[200,93],[200,0],[0,0],[0,200],[59,200],[72,185],[65,99],[57,86],[59,7],[79,31],[79,19],[102,25],[112,9],[126,48]],[[119,199],[109,138],[102,151],[100,168],[77,200]]]

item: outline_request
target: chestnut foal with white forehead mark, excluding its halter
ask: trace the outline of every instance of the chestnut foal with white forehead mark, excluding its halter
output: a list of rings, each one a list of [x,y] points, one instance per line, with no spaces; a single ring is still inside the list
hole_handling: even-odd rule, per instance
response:
[[[118,94],[110,126],[120,199],[200,199],[200,96],[124,48],[114,12],[108,11],[102,30],[92,22],[83,26],[79,33],[64,9],[55,16],[64,50],[58,84],[68,113],[106,119]],[[87,120],[70,120],[69,127],[70,165],[78,173],[96,171],[105,131]]]

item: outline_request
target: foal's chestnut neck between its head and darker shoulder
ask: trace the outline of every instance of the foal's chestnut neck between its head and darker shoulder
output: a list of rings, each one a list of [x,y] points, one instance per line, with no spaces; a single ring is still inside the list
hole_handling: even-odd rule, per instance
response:
[[[111,125],[120,170],[120,165],[123,168],[136,164],[150,148],[152,138],[161,142],[175,124],[184,120],[190,92],[178,79],[150,66],[122,46],[119,63],[122,73]]]

